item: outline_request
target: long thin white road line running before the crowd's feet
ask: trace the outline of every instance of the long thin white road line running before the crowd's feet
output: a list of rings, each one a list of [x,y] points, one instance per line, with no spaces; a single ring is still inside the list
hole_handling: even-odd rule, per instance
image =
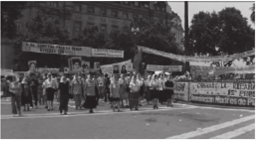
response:
[[[191,109],[194,107],[184,107],[184,108],[159,108],[157,110],[149,108],[149,110],[139,110],[139,111],[130,111],[130,110],[123,110],[123,112],[113,112],[112,110],[107,111],[96,111],[94,114],[89,113],[81,113],[76,115],[41,115],[41,116],[23,116],[23,117],[2,117],[2,119],[29,119],[29,118],[59,118],[59,117],[78,117],[78,116],[96,116],[96,115],[114,115],[114,114],[128,114],[128,113],[138,113],[138,112],[149,112],[149,111],[167,111],[167,110],[179,110],[179,109]]]

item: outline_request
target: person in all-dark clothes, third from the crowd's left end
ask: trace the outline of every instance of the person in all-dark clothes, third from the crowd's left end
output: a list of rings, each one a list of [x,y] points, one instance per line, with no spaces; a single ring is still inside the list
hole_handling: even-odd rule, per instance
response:
[[[29,86],[30,86],[30,92],[33,96],[34,104],[37,108],[37,101],[38,101],[38,95],[37,95],[37,90],[38,90],[38,80],[35,78],[35,74],[30,75],[30,81],[29,81]],[[32,103],[32,108],[33,108],[33,103]]]

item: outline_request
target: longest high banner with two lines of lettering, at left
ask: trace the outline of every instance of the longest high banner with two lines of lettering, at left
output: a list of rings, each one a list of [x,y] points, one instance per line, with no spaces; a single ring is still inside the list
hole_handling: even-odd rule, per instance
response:
[[[52,44],[22,43],[22,51],[91,57],[91,48]]]

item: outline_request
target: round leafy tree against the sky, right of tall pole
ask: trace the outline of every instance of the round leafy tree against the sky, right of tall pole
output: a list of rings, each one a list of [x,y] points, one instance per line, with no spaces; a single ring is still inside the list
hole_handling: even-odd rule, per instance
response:
[[[235,8],[220,12],[199,12],[190,27],[191,54],[221,55],[251,50],[254,30]]]

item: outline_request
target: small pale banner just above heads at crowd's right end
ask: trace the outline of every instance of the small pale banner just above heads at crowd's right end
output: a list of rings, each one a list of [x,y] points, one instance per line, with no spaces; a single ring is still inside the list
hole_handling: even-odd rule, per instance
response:
[[[146,65],[146,70],[149,70],[149,71],[165,70],[168,72],[181,72],[182,66]]]

